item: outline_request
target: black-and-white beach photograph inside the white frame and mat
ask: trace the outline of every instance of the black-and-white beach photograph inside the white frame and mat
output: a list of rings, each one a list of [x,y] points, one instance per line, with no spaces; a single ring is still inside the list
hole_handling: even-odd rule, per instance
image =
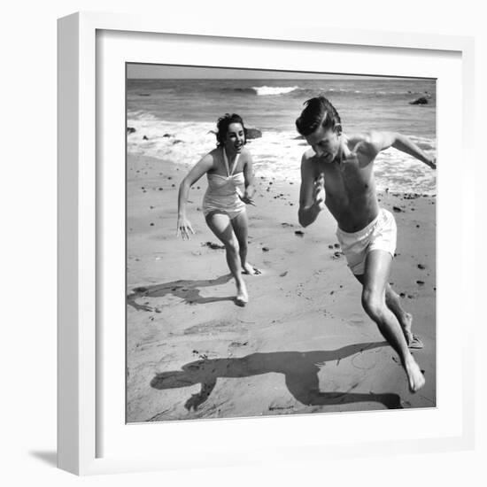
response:
[[[127,65],[128,423],[437,406],[436,97]]]

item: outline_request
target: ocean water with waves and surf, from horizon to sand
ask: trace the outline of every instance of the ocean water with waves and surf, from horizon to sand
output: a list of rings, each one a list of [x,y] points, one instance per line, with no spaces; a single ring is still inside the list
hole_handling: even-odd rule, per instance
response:
[[[216,120],[236,112],[262,137],[247,148],[257,177],[299,182],[305,141],[295,120],[310,97],[324,95],[342,118],[344,133],[388,130],[408,135],[436,153],[436,81],[331,80],[144,80],[127,83],[128,152],[169,159],[188,167],[216,144]],[[426,96],[429,103],[409,102]],[[388,149],[375,161],[379,189],[436,193],[436,173],[403,152]]]

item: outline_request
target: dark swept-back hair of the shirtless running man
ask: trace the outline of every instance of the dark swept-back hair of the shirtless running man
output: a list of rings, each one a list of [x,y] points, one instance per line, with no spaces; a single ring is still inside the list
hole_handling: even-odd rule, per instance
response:
[[[296,120],[296,128],[301,135],[310,135],[319,128],[331,128],[342,133],[342,120],[336,108],[325,97],[314,97],[305,101],[305,109]]]

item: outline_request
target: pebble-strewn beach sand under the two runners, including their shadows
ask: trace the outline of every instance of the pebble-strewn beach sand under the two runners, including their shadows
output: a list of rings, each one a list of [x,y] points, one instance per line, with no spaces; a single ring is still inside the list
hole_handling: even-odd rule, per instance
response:
[[[128,155],[128,422],[436,406],[435,197],[380,195],[398,223],[390,282],[424,344],[412,352],[426,385],[412,394],[328,212],[301,228],[298,183],[256,175],[249,261],[262,274],[245,276],[239,307],[225,253],[208,244],[220,242],[200,210],[205,177],[189,193],[196,235],[176,238],[185,174]]]

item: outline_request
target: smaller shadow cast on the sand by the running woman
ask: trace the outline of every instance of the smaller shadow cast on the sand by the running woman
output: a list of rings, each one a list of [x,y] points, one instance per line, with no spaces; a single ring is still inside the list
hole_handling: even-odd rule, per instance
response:
[[[201,288],[219,286],[220,284],[227,283],[231,278],[231,274],[225,274],[221,275],[217,279],[198,281],[180,279],[179,281],[164,282],[162,284],[155,284],[153,286],[139,287],[135,288],[133,290],[134,292],[128,295],[127,304],[133,306],[137,311],[154,311],[152,306],[140,305],[136,300],[139,298],[163,298],[168,294],[172,294],[176,298],[182,298],[189,305],[206,305],[208,303],[216,303],[217,301],[235,301],[235,296],[203,298],[199,294]]]

